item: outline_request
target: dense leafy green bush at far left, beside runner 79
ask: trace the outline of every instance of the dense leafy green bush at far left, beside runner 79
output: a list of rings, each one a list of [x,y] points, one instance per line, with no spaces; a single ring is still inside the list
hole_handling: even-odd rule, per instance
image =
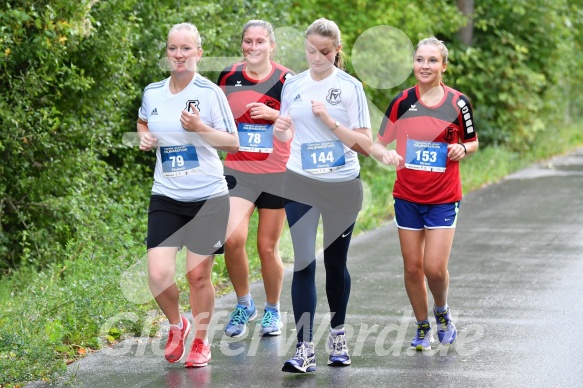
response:
[[[72,180],[115,148],[125,121],[118,106],[133,89],[132,57],[123,53],[137,25],[123,19],[132,0],[4,3],[0,269],[40,268],[75,236]],[[108,190],[107,181],[99,186]]]

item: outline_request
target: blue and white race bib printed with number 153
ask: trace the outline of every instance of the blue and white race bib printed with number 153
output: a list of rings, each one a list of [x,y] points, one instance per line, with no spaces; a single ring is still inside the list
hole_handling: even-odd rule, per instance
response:
[[[407,140],[405,168],[431,172],[445,172],[447,143]]]

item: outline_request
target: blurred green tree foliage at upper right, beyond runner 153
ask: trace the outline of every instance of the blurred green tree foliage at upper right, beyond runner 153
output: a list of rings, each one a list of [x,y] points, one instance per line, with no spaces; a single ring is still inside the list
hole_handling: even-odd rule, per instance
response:
[[[526,151],[547,125],[564,120],[581,64],[569,1],[477,2],[473,47],[458,48],[454,85],[472,97],[480,139]],[[571,27],[569,26],[571,24]],[[552,32],[551,32],[552,31]],[[543,115],[543,113],[545,113]]]

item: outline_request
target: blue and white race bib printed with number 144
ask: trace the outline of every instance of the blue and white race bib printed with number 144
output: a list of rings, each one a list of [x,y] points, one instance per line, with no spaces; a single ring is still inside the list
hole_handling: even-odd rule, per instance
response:
[[[340,140],[302,144],[302,169],[312,174],[323,174],[342,168],[344,146]]]

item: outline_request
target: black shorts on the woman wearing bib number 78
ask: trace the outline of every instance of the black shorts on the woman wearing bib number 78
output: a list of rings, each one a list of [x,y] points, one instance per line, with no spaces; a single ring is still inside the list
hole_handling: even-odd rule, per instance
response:
[[[229,195],[255,204],[258,209],[283,209],[283,178],[285,173],[250,174],[225,167]]]

